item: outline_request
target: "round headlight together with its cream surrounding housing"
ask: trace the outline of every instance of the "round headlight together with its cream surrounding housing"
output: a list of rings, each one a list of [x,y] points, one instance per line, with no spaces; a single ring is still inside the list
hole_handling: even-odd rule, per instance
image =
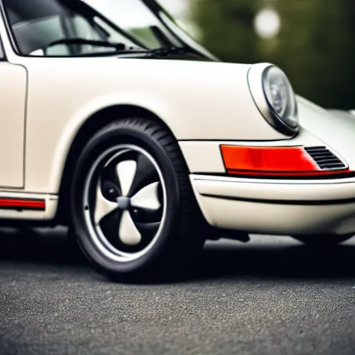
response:
[[[271,64],[255,64],[248,73],[254,102],[272,127],[285,135],[298,131],[297,102],[284,71]]]

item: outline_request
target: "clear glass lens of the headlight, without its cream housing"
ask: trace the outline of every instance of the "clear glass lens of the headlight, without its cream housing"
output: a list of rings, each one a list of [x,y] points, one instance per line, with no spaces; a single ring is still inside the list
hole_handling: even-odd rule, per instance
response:
[[[291,128],[298,125],[295,94],[285,73],[268,67],[263,73],[263,90],[270,109]]]

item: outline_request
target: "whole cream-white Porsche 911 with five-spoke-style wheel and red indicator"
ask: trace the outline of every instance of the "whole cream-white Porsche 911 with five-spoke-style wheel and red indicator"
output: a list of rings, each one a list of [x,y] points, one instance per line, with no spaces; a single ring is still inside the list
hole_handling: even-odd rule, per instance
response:
[[[351,112],[218,61],[154,0],[93,2],[0,0],[1,225],[67,225],[109,277],[218,236],[355,234]]]

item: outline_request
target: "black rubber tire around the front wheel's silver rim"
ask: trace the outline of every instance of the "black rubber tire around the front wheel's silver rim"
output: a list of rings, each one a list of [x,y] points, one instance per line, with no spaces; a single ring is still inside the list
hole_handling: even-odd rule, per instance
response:
[[[88,217],[85,220],[84,186],[88,173],[95,159],[118,144],[134,145],[153,157],[166,187],[166,213],[157,241],[148,252],[129,261],[117,261],[104,254],[89,231]],[[119,151],[125,154],[126,150]],[[193,196],[189,171],[178,142],[165,128],[146,119],[116,121],[90,139],[74,172],[71,215],[80,248],[97,272],[113,279],[137,281],[173,276],[189,268],[205,243],[205,219]]]

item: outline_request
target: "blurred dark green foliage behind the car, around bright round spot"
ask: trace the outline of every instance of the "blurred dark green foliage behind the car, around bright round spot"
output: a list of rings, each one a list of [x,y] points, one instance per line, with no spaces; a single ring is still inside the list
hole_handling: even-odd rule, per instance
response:
[[[272,62],[295,91],[324,107],[355,109],[355,0],[191,0],[202,44],[227,62]],[[254,31],[263,8],[281,28],[264,40]]]

